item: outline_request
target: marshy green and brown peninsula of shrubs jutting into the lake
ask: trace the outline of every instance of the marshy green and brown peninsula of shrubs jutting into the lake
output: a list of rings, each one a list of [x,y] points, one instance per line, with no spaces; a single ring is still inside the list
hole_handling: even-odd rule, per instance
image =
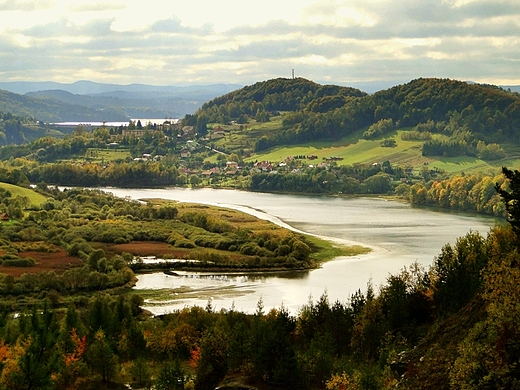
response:
[[[11,194],[14,188],[0,188],[0,294],[14,305],[16,297],[48,290],[74,294],[129,286],[133,271],[173,267],[136,257],[192,260],[176,263],[176,269],[272,271],[315,268],[349,253],[235,210],[44,185],[39,193],[22,190],[20,197]]]

